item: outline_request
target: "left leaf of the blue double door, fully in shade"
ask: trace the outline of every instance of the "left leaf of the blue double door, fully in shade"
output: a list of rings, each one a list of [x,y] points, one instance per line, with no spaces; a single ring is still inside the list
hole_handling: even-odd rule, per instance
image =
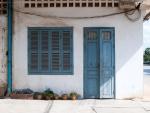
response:
[[[99,98],[99,42],[98,30],[85,30],[84,96]]]

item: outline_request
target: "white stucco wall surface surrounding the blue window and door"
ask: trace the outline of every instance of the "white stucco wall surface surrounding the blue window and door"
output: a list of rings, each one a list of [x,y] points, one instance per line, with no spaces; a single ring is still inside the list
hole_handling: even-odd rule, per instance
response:
[[[142,19],[131,22],[124,15],[85,20],[49,17],[50,15],[93,16],[118,11],[111,8],[51,8],[49,10],[43,8],[43,10],[24,11],[46,15],[46,17],[14,12],[13,88],[31,88],[35,91],[51,88],[56,93],[76,91],[83,96],[83,28],[115,27],[116,98],[142,95]],[[73,26],[74,75],[28,75],[27,28],[61,26]]]

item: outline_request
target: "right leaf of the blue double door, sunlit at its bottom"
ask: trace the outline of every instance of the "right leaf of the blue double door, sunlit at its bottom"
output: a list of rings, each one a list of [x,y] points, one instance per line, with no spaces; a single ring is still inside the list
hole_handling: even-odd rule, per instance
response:
[[[114,31],[100,29],[100,98],[114,98]]]

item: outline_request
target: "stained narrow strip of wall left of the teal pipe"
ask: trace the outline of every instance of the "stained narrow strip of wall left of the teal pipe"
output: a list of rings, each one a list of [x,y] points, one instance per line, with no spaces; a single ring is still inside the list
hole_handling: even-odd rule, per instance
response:
[[[0,16],[0,80],[6,82],[7,80],[7,18],[5,16]]]

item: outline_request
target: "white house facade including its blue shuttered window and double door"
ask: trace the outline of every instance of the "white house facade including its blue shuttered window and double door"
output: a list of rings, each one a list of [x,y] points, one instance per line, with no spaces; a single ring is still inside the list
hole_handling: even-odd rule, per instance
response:
[[[13,89],[142,97],[143,11],[124,13],[118,0],[14,0]]]

